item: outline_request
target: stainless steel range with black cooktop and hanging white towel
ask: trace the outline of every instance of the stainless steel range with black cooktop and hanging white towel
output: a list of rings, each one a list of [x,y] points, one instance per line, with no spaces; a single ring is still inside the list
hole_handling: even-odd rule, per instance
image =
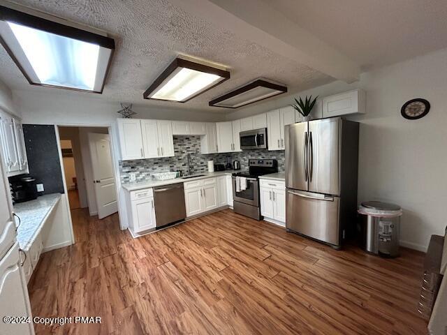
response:
[[[249,159],[249,171],[233,173],[233,210],[261,220],[259,176],[278,172],[276,159]]]

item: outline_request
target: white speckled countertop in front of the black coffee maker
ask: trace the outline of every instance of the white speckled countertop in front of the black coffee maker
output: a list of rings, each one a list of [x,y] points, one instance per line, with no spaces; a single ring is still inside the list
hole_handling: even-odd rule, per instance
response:
[[[17,241],[24,251],[28,251],[36,234],[41,231],[43,223],[56,207],[61,196],[61,193],[46,194],[36,200],[14,205],[14,213],[20,218]]]

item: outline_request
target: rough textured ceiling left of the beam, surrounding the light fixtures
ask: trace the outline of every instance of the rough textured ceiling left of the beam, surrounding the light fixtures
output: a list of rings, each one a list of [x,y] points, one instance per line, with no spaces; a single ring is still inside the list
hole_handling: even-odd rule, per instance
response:
[[[214,27],[168,1],[23,0],[24,6],[107,31],[116,41],[110,75],[100,98],[139,105],[210,110],[212,100],[258,77],[266,77],[298,91],[332,81],[331,77],[276,54],[236,34]],[[178,54],[226,66],[231,79],[187,103],[143,100],[142,93]],[[0,47],[0,79],[11,89],[52,90],[57,94],[94,94],[34,87],[28,84]],[[95,95],[96,96],[96,95]]]

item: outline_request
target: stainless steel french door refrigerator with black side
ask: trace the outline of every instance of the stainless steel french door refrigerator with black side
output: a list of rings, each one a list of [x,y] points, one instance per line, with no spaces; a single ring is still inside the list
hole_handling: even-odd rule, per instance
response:
[[[285,127],[288,231],[335,248],[355,231],[358,129],[340,117]]]

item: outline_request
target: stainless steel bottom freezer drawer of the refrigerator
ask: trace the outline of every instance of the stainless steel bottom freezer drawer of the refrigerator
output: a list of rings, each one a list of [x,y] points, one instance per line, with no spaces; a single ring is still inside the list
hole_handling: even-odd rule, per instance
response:
[[[339,246],[339,227],[338,197],[287,189],[286,228]]]

